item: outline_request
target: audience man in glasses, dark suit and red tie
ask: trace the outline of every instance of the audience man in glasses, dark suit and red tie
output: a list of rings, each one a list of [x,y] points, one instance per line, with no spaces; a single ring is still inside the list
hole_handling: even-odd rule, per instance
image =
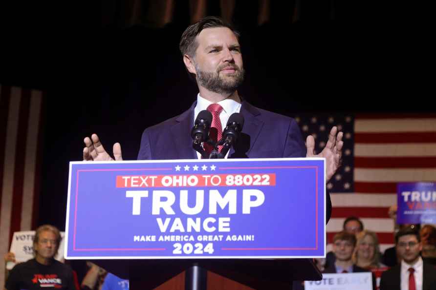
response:
[[[380,290],[436,289],[436,269],[424,263],[419,255],[422,244],[418,231],[401,229],[395,235],[395,245],[401,264],[382,274]]]

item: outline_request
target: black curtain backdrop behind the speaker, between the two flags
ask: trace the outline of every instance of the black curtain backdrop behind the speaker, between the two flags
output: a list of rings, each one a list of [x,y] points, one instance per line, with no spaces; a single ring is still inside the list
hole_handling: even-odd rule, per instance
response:
[[[217,2],[208,2],[208,13],[218,15]],[[369,1],[290,1],[272,4],[270,20],[259,26],[258,8],[236,2],[247,71],[240,94],[252,104],[288,116],[435,111],[423,69],[429,36],[422,37],[426,26],[410,10],[403,17],[392,13],[398,7]],[[146,127],[196,99],[178,51],[189,24],[187,2],[177,1],[174,21],[163,27],[146,21],[147,1],[133,24],[121,3],[0,9],[6,28],[0,83],[47,94],[40,224],[65,228],[68,162],[82,159],[85,136],[98,133],[109,151],[120,142],[124,159],[134,160]]]

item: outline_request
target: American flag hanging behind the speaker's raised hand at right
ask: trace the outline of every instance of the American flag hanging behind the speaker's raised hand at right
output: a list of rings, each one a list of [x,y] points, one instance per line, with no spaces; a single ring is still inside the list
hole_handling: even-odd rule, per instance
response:
[[[344,132],[343,166],[327,183],[332,216],[327,242],[345,218],[359,217],[375,231],[380,250],[393,246],[398,182],[436,181],[436,114],[360,114],[296,116],[304,137],[314,135],[317,153],[337,125]],[[331,246],[327,246],[327,251]]]

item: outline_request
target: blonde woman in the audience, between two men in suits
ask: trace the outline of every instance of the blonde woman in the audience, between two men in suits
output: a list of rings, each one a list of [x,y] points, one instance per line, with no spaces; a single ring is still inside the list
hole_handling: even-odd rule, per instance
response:
[[[353,263],[363,269],[386,267],[380,263],[380,245],[377,234],[363,230],[357,234],[356,248],[353,253]]]

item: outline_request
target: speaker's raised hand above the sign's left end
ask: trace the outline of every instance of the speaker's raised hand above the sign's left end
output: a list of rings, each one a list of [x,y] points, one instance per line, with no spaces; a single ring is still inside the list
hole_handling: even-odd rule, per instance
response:
[[[97,134],[92,134],[91,138],[86,137],[83,142],[85,143],[85,148],[83,148],[83,160],[84,161],[110,161],[113,160],[112,157],[106,152],[105,148],[98,139]],[[121,156],[121,145],[115,143],[113,145],[113,156],[116,161],[123,160]]]

